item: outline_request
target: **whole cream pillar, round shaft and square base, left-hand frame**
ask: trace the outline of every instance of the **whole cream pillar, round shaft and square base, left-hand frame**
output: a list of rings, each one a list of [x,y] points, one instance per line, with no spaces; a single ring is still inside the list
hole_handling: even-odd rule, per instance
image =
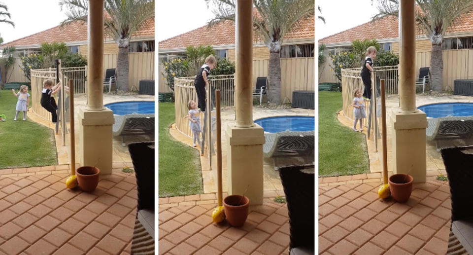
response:
[[[103,107],[103,0],[89,1],[87,107],[79,110],[81,166],[112,172],[113,112]]]

